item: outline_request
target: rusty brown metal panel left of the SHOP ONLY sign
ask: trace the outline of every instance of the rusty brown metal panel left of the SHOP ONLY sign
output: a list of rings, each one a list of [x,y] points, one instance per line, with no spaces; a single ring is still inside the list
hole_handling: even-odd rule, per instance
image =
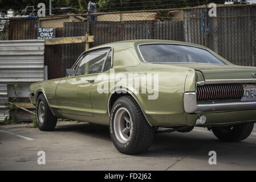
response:
[[[10,18],[9,40],[36,39],[36,19]]]

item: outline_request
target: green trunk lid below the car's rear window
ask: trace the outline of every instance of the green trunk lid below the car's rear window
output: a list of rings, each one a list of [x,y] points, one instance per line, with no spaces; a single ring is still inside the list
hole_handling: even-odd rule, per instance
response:
[[[171,63],[166,65],[175,65],[179,67],[187,67],[200,71],[205,80],[217,79],[247,79],[253,78],[252,74],[256,73],[255,67],[242,67],[238,65],[214,65],[214,64],[182,64]]]

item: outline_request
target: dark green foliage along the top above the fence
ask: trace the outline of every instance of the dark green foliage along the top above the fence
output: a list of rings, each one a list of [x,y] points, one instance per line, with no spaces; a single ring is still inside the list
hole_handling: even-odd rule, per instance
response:
[[[80,13],[86,10],[86,3],[90,0],[51,0],[52,1],[52,13],[58,14],[60,10],[56,9],[58,7],[72,7],[76,9],[80,9]],[[204,5],[206,0],[91,0],[97,4],[98,11],[127,11],[127,10],[145,10],[145,9],[166,9],[172,7],[192,7],[198,5]],[[234,3],[244,3],[246,0],[226,0],[232,1]],[[218,1],[208,1],[216,2],[216,3],[225,3],[226,1],[218,0]],[[46,5],[46,10],[48,11],[49,1],[48,0],[0,0],[1,12],[6,13],[7,10],[12,9],[17,14],[22,14],[22,10],[25,9],[26,6],[34,6],[37,8],[38,3],[44,3]],[[68,13],[68,11],[76,11],[78,10],[67,10],[62,13]]]

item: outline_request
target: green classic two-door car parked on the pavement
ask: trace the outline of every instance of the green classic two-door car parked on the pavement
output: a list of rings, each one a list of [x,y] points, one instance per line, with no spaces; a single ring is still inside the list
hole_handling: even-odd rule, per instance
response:
[[[207,127],[226,142],[249,137],[256,121],[256,68],[209,48],[129,40],[83,52],[67,76],[36,82],[29,97],[40,130],[57,118],[109,125],[120,152],[147,151],[159,132]]]

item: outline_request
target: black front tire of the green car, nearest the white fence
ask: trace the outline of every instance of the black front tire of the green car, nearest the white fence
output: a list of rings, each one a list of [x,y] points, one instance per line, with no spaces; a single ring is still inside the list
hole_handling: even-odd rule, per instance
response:
[[[41,121],[39,119],[40,103],[42,103],[44,106],[44,111],[42,111],[42,113],[44,113],[44,118],[41,118]],[[44,97],[43,94],[40,94],[37,98],[36,106],[35,106],[35,116],[36,116],[36,124],[40,130],[42,131],[54,130],[57,123],[57,118],[52,114],[51,109],[48,106],[46,98]]]

